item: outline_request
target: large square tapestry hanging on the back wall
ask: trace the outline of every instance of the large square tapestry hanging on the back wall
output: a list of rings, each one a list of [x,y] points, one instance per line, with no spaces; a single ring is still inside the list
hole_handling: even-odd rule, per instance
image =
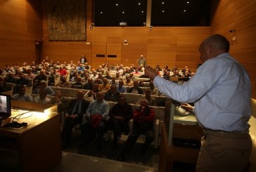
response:
[[[86,40],[86,0],[46,0],[49,40]]]

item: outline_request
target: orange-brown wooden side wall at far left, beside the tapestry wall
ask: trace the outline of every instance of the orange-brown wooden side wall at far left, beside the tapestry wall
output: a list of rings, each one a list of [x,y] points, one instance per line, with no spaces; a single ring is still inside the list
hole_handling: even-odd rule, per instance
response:
[[[38,39],[41,29],[32,32],[32,28],[42,25],[38,23],[41,16],[34,15],[28,4],[26,0],[0,1],[0,67],[34,60],[34,41],[31,40]],[[29,25],[32,21],[34,27]]]

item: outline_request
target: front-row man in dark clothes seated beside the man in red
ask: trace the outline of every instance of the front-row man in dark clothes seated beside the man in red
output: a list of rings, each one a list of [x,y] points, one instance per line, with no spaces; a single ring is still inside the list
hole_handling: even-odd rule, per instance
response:
[[[110,110],[108,128],[113,130],[114,140],[113,147],[117,147],[117,138],[124,132],[129,133],[129,120],[132,119],[132,105],[129,105],[124,95],[120,95],[118,103]]]

